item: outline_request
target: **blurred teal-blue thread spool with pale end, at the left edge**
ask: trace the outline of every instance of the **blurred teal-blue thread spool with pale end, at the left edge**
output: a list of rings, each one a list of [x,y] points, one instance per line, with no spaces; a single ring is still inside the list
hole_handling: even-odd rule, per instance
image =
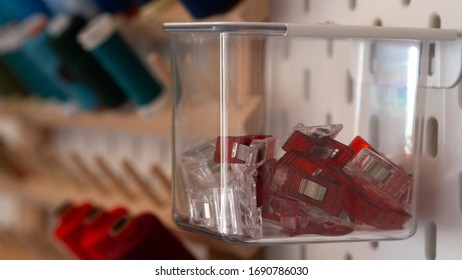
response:
[[[20,26],[10,26],[0,35],[0,57],[31,93],[43,99],[65,98],[49,77],[22,48],[25,34]]]

